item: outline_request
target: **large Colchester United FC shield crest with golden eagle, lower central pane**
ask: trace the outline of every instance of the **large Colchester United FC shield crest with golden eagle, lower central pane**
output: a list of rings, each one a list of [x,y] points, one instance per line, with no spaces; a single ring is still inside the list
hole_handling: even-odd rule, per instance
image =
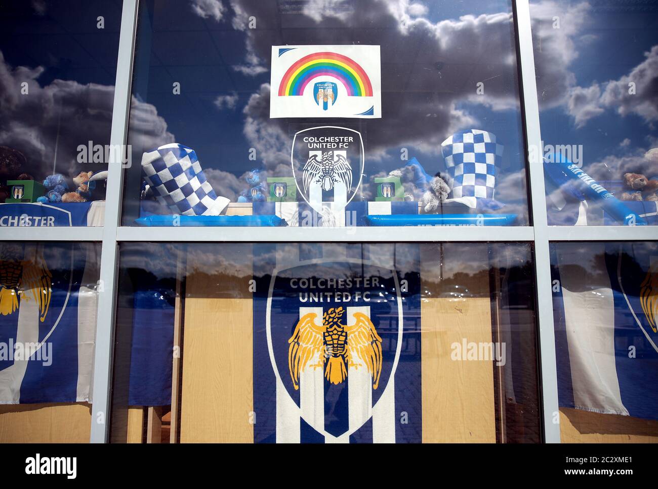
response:
[[[324,440],[346,440],[391,406],[403,335],[397,272],[364,260],[297,261],[294,248],[278,254],[265,314],[278,422],[301,418]]]

